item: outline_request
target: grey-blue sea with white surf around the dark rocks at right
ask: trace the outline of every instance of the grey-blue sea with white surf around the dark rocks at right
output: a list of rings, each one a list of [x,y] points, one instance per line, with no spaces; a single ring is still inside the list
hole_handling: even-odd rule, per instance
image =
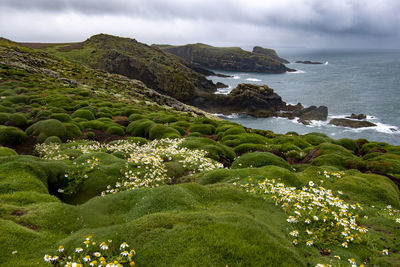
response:
[[[267,84],[291,104],[328,107],[328,121],[313,121],[305,126],[297,120],[254,118],[232,114],[221,117],[246,127],[272,130],[276,133],[296,131],[300,134],[322,132],[334,139],[387,142],[400,145],[400,50],[291,50],[278,51],[290,62],[311,60],[322,65],[290,63],[294,73],[261,74],[221,72],[232,78],[209,77],[229,85],[217,93],[229,93],[239,83]],[[376,127],[351,129],[329,125],[332,118],[363,113]]]

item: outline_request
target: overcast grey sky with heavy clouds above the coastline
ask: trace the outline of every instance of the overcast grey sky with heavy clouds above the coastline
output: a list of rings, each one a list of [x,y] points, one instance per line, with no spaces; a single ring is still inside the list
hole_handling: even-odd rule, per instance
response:
[[[77,42],[399,48],[399,0],[0,0],[0,36]]]

